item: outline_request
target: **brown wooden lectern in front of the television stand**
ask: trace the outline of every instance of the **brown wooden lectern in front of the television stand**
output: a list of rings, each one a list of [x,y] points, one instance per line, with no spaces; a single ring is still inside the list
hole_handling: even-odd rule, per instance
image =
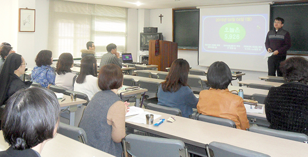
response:
[[[177,59],[177,43],[159,40],[159,53],[155,55],[155,40],[149,42],[149,64],[158,65],[158,71],[167,72],[166,68],[171,67]]]

